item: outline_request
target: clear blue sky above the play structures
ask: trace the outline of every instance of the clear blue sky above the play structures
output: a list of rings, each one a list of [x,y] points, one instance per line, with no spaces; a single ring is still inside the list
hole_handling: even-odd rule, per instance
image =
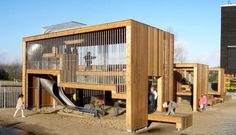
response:
[[[236,0],[231,0],[236,3]],[[22,38],[68,21],[134,19],[171,31],[187,62],[220,65],[220,5],[228,0],[2,0],[0,63],[21,62]]]

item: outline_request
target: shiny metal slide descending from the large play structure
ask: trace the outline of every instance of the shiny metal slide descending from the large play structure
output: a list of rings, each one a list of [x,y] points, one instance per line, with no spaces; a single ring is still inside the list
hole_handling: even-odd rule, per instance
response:
[[[62,88],[58,88],[56,82],[49,79],[40,78],[42,87],[62,106],[72,107],[76,106],[66,97]]]

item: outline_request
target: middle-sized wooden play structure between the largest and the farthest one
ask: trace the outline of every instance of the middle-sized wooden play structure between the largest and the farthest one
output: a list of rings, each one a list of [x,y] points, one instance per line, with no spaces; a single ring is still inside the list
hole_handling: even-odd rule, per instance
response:
[[[174,64],[174,90],[178,103],[188,101],[193,111],[198,109],[198,99],[208,92],[208,66],[204,64]]]

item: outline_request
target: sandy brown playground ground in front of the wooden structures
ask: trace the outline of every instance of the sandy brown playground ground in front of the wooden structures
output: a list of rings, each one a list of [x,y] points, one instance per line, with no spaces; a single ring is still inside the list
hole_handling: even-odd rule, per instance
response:
[[[175,124],[152,123],[138,131],[144,135],[233,135],[236,134],[236,100],[193,113],[193,126],[177,131]],[[1,135],[130,135],[125,130],[125,114],[118,117],[72,117],[58,113],[25,111],[26,118],[13,118],[15,109],[0,109]],[[20,116],[20,114],[18,114]]]

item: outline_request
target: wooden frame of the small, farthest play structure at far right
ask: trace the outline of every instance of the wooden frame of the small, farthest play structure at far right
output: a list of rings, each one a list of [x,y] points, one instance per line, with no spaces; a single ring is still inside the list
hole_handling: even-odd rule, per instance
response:
[[[225,94],[225,87],[224,87],[224,69],[223,68],[209,68],[210,71],[215,71],[218,73],[218,78],[217,78],[217,91],[210,91],[208,90],[208,95],[213,95],[213,96],[222,96]]]

